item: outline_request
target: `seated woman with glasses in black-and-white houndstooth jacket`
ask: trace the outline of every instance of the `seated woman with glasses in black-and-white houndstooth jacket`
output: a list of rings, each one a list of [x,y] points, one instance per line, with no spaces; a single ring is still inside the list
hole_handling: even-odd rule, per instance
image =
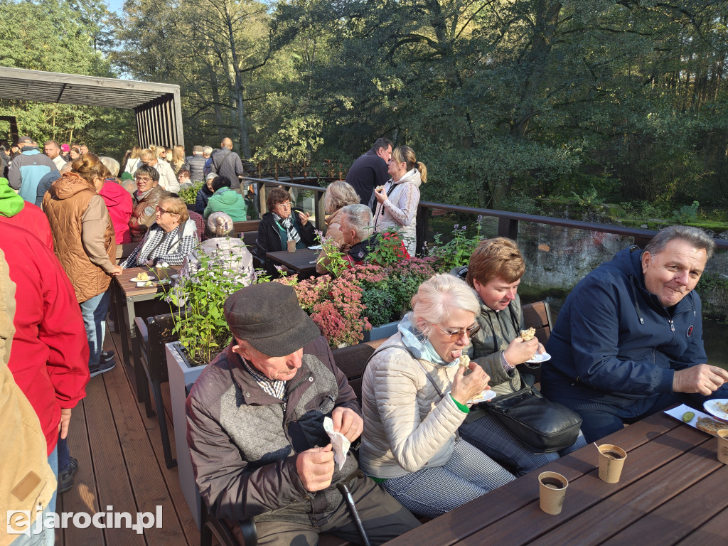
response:
[[[141,167],[140,167],[141,168]],[[137,171],[138,172],[138,171]],[[179,197],[162,197],[154,208],[155,221],[144,240],[122,264],[129,267],[182,265],[199,242],[197,227],[190,220],[187,205]]]

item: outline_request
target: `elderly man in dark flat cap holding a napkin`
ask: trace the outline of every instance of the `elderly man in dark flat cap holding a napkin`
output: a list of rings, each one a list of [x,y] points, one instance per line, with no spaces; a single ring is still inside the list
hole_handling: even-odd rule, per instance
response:
[[[324,418],[352,442],[363,420],[295,290],[277,282],[242,288],[224,313],[233,340],[187,398],[187,443],[210,513],[228,521],[253,518],[259,545],[317,545],[322,532],[359,543],[336,487],[344,483],[372,544],[418,526],[359,472],[351,452],[343,467],[335,465]]]

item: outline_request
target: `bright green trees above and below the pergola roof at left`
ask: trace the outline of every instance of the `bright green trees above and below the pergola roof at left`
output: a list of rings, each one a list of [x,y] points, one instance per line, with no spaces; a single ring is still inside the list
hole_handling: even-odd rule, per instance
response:
[[[0,66],[114,77],[104,55],[114,15],[102,0],[0,0]],[[39,143],[87,143],[120,159],[135,140],[133,112],[56,103],[0,100],[0,115],[16,116],[21,134]],[[42,147],[42,144],[41,144]]]

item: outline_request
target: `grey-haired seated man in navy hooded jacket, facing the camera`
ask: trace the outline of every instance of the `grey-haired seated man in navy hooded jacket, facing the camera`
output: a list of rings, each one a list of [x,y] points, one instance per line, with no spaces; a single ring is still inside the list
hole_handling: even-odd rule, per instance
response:
[[[728,397],[728,371],[705,364],[695,285],[715,243],[670,226],[617,253],[571,290],[547,344],[543,393],[582,416],[588,442],[675,403]]]

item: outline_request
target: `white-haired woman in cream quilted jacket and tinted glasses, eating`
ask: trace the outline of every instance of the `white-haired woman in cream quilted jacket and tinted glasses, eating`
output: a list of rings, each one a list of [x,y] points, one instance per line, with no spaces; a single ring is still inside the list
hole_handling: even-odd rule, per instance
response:
[[[361,468],[416,515],[435,518],[515,479],[457,435],[489,389],[483,368],[459,365],[478,310],[465,282],[435,275],[364,373]]]

